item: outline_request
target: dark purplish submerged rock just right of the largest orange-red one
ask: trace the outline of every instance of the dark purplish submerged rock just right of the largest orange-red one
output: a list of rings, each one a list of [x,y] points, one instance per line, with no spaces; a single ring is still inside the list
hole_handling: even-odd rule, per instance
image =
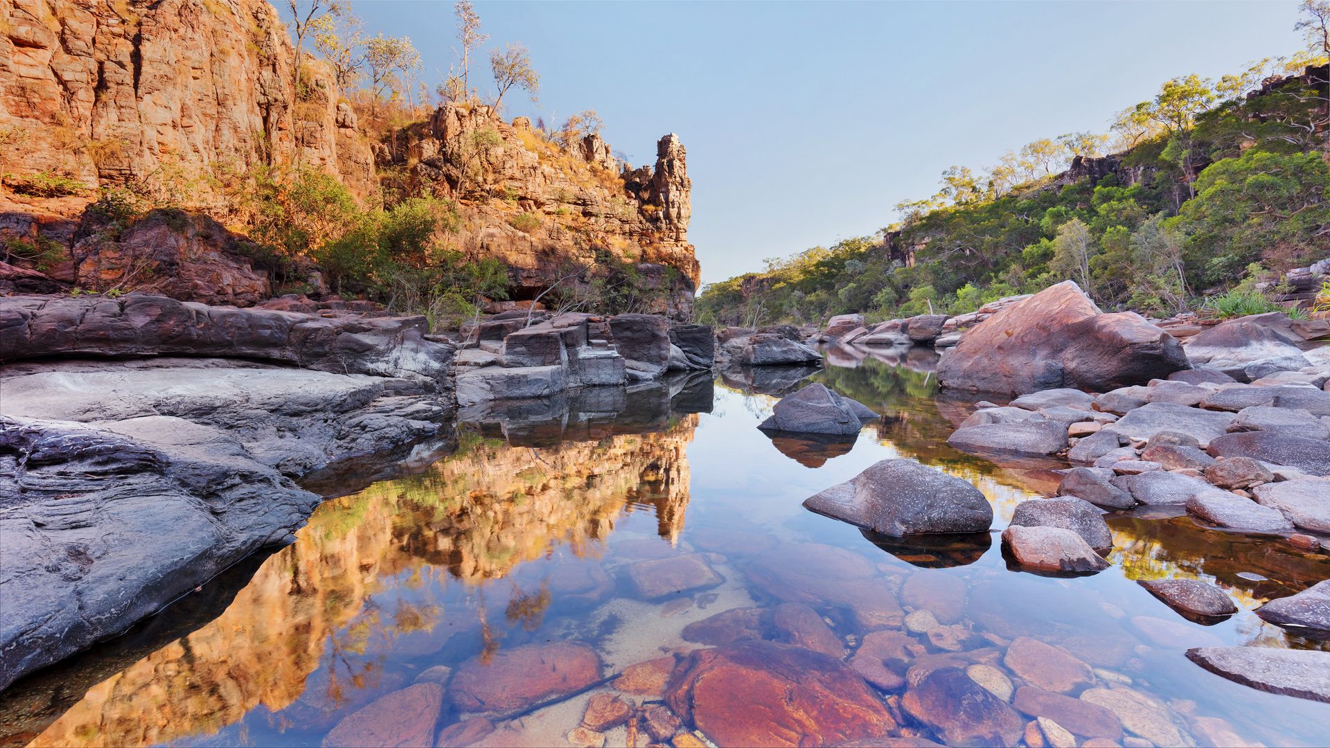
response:
[[[956,667],[928,673],[900,704],[951,745],[1015,745],[1025,729],[1015,709]]]

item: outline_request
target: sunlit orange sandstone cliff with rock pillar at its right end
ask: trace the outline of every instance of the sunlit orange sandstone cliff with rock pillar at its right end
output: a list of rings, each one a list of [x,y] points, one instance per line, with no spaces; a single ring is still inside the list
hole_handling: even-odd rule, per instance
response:
[[[686,240],[690,181],[677,136],[660,141],[653,166],[633,169],[598,134],[556,145],[524,117],[509,124],[481,105],[448,105],[404,129],[371,133],[321,61],[302,60],[299,92],[295,65],[263,0],[0,3],[0,177],[11,188],[0,186],[0,240],[36,248],[19,258],[0,252],[0,293],[49,291],[52,282],[132,289],[156,273],[162,293],[254,303],[270,293],[266,274],[246,272],[253,264],[229,237],[230,249],[193,253],[210,264],[200,277],[225,277],[214,294],[160,280],[194,257],[164,257],[157,245],[188,242],[109,253],[74,245],[88,240],[86,209],[101,188],[128,188],[149,206],[194,209],[242,234],[235,194],[259,168],[298,165],[336,177],[364,208],[411,196],[454,200],[463,225],[448,241],[507,262],[512,298],[531,298],[567,268],[602,257],[668,287],[660,311],[690,307],[700,270]],[[70,181],[59,194],[12,189],[33,176]],[[32,260],[37,252],[47,252],[43,261]],[[80,273],[85,256],[93,256],[90,274]]]

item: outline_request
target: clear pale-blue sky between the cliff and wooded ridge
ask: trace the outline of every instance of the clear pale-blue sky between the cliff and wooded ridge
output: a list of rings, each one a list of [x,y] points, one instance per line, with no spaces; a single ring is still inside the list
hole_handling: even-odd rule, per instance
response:
[[[285,5],[285,3],[283,3]],[[451,1],[359,0],[410,36],[431,81],[454,63]],[[1299,43],[1291,0],[1254,3],[488,3],[488,47],[521,41],[555,124],[585,108],[634,164],[678,133],[704,282],[894,221],[950,165],[1112,114],[1164,80],[1217,77]],[[488,84],[488,49],[479,64]],[[475,83],[475,79],[473,79]]]

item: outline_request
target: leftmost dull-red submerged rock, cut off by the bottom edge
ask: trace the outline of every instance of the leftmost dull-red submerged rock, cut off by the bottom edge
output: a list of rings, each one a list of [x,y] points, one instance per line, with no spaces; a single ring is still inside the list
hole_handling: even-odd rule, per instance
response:
[[[443,687],[418,683],[351,712],[323,745],[431,745],[442,708]]]

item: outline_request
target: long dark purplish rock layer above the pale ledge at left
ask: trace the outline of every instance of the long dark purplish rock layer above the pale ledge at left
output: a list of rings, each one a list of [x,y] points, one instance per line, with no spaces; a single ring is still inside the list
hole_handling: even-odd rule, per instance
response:
[[[454,347],[424,317],[315,317],[150,294],[0,297],[0,361],[52,355],[230,357],[447,386]]]

